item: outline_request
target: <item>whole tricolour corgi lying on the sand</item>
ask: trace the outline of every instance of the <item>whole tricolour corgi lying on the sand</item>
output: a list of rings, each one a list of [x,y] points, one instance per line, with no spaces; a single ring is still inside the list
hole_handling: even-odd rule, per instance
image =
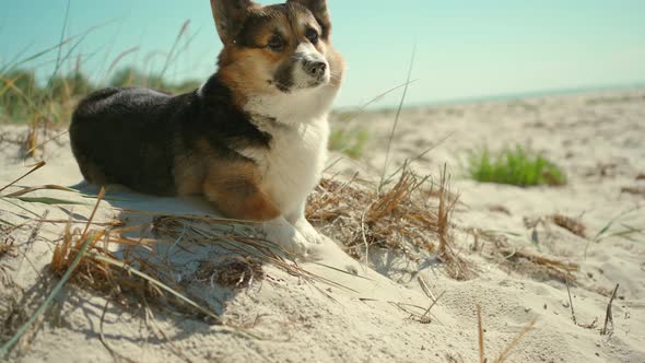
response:
[[[72,116],[72,152],[91,184],[201,195],[305,257],[329,242],[305,219],[305,202],[320,182],[344,69],[327,1],[211,0],[211,9],[224,45],[218,71],[180,95],[90,94]]]

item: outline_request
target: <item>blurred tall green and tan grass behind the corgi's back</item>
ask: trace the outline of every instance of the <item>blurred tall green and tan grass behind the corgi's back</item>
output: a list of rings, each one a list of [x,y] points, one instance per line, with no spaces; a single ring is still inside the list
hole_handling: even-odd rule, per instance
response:
[[[78,49],[90,33],[104,25],[68,38],[61,36],[57,45],[32,55],[20,54],[8,62],[0,62],[0,124],[28,122],[35,129],[38,126],[69,122],[78,102],[90,92],[105,86],[142,85],[173,94],[199,87],[200,82],[194,80],[173,83],[165,78],[171,67],[179,61],[183,51],[190,46],[192,35],[188,30],[189,22],[184,23],[169,51],[153,52],[165,55],[161,70],[145,73],[120,66],[126,56],[139,51],[139,47],[133,47],[116,56],[105,73],[102,70],[99,77],[90,79],[83,72],[83,60],[87,56]],[[67,19],[63,34],[66,28]],[[56,57],[55,62],[51,57]],[[38,68],[51,63],[51,74],[36,75]]]

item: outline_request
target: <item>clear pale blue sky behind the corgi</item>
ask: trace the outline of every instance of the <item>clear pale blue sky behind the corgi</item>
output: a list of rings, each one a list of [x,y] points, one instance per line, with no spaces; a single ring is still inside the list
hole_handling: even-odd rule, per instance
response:
[[[260,1],[271,3],[272,1]],[[645,83],[643,0],[328,0],[348,73],[339,106],[401,84],[417,57],[412,104],[496,94]],[[67,0],[5,0],[0,65],[56,45]],[[167,75],[206,79],[221,45],[207,0],[71,0],[68,36],[104,24],[72,50],[94,80],[120,65],[161,69],[181,24],[192,40]],[[69,47],[63,49],[63,54]],[[47,77],[56,52],[25,65]],[[78,59],[74,56],[74,60]],[[73,62],[66,65],[66,69]],[[399,94],[382,105],[396,104]]]

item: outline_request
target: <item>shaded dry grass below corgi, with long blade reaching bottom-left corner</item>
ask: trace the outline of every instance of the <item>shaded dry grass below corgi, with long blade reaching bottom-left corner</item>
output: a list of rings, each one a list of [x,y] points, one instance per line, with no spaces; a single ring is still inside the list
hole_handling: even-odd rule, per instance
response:
[[[23,308],[17,314],[16,308],[20,304],[12,301],[1,302],[3,319],[0,325],[9,329],[5,330],[7,333],[2,333],[2,340],[10,340],[2,346],[0,358],[19,340],[24,340],[26,332],[37,330],[34,323],[47,311],[54,296],[68,282],[105,295],[108,302],[122,307],[144,306],[146,314],[152,314],[149,305],[153,305],[162,309],[172,309],[174,315],[180,313],[187,317],[221,324],[220,317],[206,302],[189,293],[184,283],[175,280],[174,272],[177,266],[168,260],[167,256],[162,256],[157,251],[162,244],[168,245],[168,241],[161,236],[175,236],[178,231],[180,236],[174,238],[175,245],[180,243],[178,250],[184,251],[185,245],[188,244],[215,244],[227,250],[219,260],[202,264],[189,282],[202,282],[199,280],[201,277],[222,286],[249,286],[254,281],[263,278],[261,264],[271,262],[302,281],[326,282],[342,288],[302,270],[295,264],[288,262],[281,254],[273,250],[275,246],[250,236],[248,232],[251,229],[248,225],[232,221],[197,216],[159,216],[151,224],[124,229],[115,227],[114,223],[94,223],[102,197],[103,192],[83,227],[72,229],[72,222],[67,223],[60,242],[56,243],[49,266],[49,271],[60,280],[36,313],[26,315]],[[209,227],[206,229],[206,225]],[[95,227],[99,230],[93,230]],[[141,238],[125,235],[151,230],[160,238],[149,238],[143,234]],[[8,318],[4,318],[7,316]],[[243,328],[224,326],[222,329],[258,338]]]

